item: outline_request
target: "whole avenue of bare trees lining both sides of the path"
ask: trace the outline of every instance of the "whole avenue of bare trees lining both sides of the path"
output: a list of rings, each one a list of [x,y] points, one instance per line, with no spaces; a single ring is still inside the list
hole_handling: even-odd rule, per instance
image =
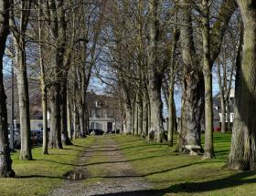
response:
[[[29,82],[36,81],[39,87],[42,153],[48,154],[48,148],[62,149],[72,145],[72,139],[88,135],[86,95],[91,77],[97,77],[116,98],[123,134],[171,147],[178,134],[174,150],[199,146],[203,159],[215,157],[213,84],[219,87],[224,122],[229,122],[229,94],[235,86],[226,167],[256,170],[255,0],[0,0],[0,10],[2,177],[15,176],[4,67],[15,69],[20,160],[33,160]],[[12,65],[5,63],[6,58]],[[182,92],[178,123],[176,88]],[[228,128],[222,123],[221,131],[227,130],[229,123]]]

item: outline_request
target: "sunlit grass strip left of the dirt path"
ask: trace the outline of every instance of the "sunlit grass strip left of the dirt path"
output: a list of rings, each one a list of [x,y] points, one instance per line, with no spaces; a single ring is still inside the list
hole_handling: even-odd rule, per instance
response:
[[[64,150],[49,150],[42,155],[41,148],[33,149],[35,160],[18,160],[18,152],[12,155],[16,178],[0,179],[1,196],[47,195],[48,191],[63,181],[63,175],[72,170],[80,152],[93,143],[94,139],[76,139],[73,146]]]

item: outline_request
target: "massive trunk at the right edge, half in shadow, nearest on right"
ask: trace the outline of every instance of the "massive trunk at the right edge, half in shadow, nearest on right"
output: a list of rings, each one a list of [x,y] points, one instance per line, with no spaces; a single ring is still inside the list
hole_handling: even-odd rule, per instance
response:
[[[233,170],[256,170],[256,3],[237,2],[244,26],[244,44],[236,76],[235,121],[227,165]]]

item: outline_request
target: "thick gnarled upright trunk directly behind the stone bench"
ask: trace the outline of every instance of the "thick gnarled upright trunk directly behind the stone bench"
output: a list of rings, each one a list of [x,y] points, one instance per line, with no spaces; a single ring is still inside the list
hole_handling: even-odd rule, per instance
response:
[[[201,146],[201,119],[204,114],[204,77],[197,62],[192,35],[191,5],[182,1],[182,21],[187,26],[180,28],[182,59],[184,63],[183,95],[180,133],[175,151],[182,152],[185,145]]]

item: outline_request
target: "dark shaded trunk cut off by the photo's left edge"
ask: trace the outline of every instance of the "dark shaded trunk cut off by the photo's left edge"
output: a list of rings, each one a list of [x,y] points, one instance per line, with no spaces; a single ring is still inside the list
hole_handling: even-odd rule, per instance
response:
[[[7,108],[3,76],[3,57],[5,55],[5,42],[9,34],[9,1],[0,1],[0,177],[14,177],[12,160],[9,150],[7,131]]]

